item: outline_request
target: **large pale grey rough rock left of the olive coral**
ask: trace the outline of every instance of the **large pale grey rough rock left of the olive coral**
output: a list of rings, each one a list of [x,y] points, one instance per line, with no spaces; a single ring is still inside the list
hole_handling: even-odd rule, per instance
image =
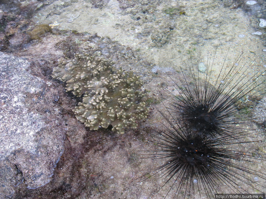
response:
[[[0,52],[0,198],[14,197],[22,185],[46,185],[64,150],[62,119],[40,111],[51,83],[29,67],[26,58]]]

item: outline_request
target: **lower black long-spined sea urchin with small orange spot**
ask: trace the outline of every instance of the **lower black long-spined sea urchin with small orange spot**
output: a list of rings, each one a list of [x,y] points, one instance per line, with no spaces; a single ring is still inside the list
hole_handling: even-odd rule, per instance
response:
[[[143,155],[165,160],[144,175],[160,173],[165,177],[160,188],[169,186],[165,198],[214,198],[215,193],[224,193],[224,187],[230,193],[265,193],[265,185],[257,180],[263,183],[266,174],[246,166],[266,161],[265,154],[245,148],[261,141],[236,141],[231,136],[211,138],[164,117],[171,128],[163,126],[162,131],[156,131],[150,141],[158,148]]]

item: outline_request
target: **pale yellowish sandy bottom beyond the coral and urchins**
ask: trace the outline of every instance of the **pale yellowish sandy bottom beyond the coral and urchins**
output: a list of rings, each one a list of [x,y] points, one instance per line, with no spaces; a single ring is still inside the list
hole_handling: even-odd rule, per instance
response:
[[[198,0],[93,2],[54,1],[41,8],[33,20],[110,37],[162,68],[186,67],[189,50],[194,63],[206,62],[208,50],[216,46],[220,52],[217,60],[222,60],[230,46],[230,60],[239,52],[252,57],[266,53],[263,1],[254,5],[251,1]]]

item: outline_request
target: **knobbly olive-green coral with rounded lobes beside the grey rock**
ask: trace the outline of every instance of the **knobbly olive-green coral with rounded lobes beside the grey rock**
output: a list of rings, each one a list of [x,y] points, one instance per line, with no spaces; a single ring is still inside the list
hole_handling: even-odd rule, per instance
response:
[[[147,118],[148,108],[141,102],[144,94],[140,91],[140,77],[117,70],[113,64],[111,60],[81,53],[74,59],[60,58],[51,76],[66,82],[67,92],[77,97],[84,94],[73,111],[90,130],[111,124],[112,131],[124,134],[125,128],[136,128],[137,120]]]

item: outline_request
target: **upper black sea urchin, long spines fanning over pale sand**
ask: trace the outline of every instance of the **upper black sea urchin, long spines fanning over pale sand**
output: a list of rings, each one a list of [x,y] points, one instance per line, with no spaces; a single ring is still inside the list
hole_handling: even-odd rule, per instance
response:
[[[243,53],[239,53],[233,65],[228,67],[226,55],[217,77],[212,80],[215,54],[216,50],[207,61],[204,75],[192,64],[189,69],[191,81],[184,78],[180,85],[176,83],[177,96],[168,91],[176,99],[170,101],[173,108],[168,110],[175,121],[206,136],[242,134],[243,129],[237,128],[236,124],[250,122],[247,110],[256,109],[255,101],[265,94],[266,79],[261,75],[265,68],[252,71],[252,63],[248,65],[244,61]],[[182,68],[181,72],[185,77]],[[248,100],[244,100],[247,96]],[[250,103],[252,101],[254,103]]]

